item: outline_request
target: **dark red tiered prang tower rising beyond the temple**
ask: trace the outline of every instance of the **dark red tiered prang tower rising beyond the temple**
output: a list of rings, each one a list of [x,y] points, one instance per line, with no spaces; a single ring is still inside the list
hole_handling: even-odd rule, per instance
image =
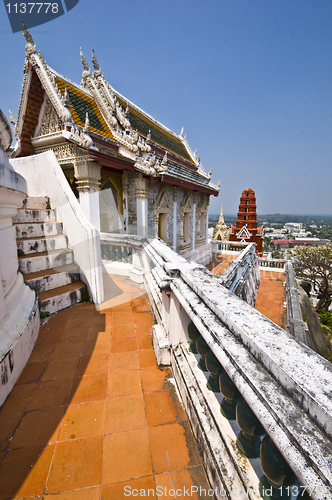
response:
[[[262,256],[263,228],[257,227],[256,208],[255,191],[245,189],[240,198],[236,227],[231,227],[229,240],[256,243],[256,253]]]

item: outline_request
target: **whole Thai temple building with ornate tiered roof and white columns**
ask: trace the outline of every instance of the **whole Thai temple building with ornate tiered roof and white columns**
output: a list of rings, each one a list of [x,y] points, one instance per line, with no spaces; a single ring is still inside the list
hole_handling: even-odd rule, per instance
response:
[[[219,194],[183,129],[176,134],[108,83],[81,51],[76,84],[27,40],[13,158],[52,150],[88,220],[103,233],[159,236],[204,263],[208,205]],[[205,253],[204,253],[205,252]]]

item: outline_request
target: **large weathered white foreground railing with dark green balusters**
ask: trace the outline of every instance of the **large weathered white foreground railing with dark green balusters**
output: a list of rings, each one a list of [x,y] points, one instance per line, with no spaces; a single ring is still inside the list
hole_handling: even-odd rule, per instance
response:
[[[216,497],[332,498],[332,365],[161,241],[134,253]]]

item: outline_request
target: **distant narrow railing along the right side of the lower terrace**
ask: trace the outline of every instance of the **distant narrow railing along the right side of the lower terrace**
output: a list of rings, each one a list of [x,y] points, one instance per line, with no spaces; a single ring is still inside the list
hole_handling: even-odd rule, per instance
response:
[[[308,325],[303,321],[293,264],[285,264],[287,329],[297,340],[307,345]]]

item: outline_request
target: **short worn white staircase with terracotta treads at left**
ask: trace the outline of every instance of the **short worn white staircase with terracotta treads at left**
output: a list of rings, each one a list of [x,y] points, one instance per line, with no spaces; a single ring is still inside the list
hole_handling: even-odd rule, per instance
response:
[[[13,219],[16,226],[19,271],[38,292],[39,309],[50,314],[78,304],[86,285],[68,248],[56,210],[49,199],[27,198]],[[86,295],[86,292],[85,292]]]

